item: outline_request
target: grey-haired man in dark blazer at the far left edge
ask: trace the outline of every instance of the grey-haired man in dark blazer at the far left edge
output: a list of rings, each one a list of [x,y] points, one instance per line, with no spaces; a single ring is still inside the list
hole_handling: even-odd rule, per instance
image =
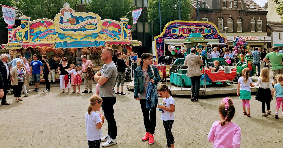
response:
[[[7,61],[8,61],[8,56],[6,54],[2,54],[0,56],[0,72],[2,74],[3,84],[4,84],[4,96],[0,98],[2,105],[9,105],[9,103],[6,100],[6,96],[7,96],[7,85],[10,83],[11,77],[10,77],[10,67]]]

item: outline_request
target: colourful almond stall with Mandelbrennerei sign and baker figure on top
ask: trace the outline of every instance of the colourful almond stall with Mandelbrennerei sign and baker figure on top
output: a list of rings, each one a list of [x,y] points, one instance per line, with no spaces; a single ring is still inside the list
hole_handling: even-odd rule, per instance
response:
[[[93,12],[75,12],[66,7],[61,9],[54,20],[30,21],[27,16],[20,19],[21,26],[13,29],[13,26],[8,25],[9,42],[3,44],[2,48],[14,54],[16,51],[16,54],[22,54],[28,61],[33,61],[34,54],[45,54],[53,59],[67,57],[68,64],[82,65],[81,55],[87,55],[93,63],[94,71],[98,72],[104,64],[100,58],[103,47],[119,49],[129,57],[132,46],[142,44],[132,40],[127,18],[121,18],[120,22],[101,20]],[[59,80],[58,73],[55,77]],[[43,76],[40,78],[44,81]]]

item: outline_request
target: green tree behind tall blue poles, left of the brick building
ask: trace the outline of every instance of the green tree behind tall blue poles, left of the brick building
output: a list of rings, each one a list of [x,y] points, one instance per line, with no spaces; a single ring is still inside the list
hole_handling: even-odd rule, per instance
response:
[[[173,20],[179,20],[179,0],[160,0],[161,31]],[[153,36],[160,34],[159,29],[159,0],[148,0],[148,20],[153,23]],[[193,12],[190,0],[181,0],[181,20],[191,20]]]

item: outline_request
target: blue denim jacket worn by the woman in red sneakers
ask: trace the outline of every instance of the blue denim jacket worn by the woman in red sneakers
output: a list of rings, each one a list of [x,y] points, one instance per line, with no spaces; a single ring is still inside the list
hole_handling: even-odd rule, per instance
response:
[[[153,68],[153,71],[155,73],[155,78],[153,77],[153,73],[151,71],[150,65],[147,68],[147,74],[149,76],[149,80],[153,79],[154,83],[156,85],[156,83],[161,80],[161,77],[159,75],[159,72],[158,72],[157,68],[155,66],[152,66],[152,68]],[[141,66],[136,68],[134,76],[135,76],[135,80],[134,80],[134,82],[135,82],[135,84],[134,84],[134,88],[135,88],[134,98],[139,98],[140,97],[139,93],[143,94],[143,72],[142,72]]]

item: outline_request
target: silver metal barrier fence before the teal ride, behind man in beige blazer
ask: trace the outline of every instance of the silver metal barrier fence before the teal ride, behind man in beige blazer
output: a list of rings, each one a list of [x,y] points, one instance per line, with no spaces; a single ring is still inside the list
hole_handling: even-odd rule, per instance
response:
[[[132,63],[133,67],[135,66],[135,63]],[[154,65],[156,67],[161,68],[168,68],[169,74],[167,72],[167,75],[169,76],[163,76],[161,79],[161,82],[163,84],[166,84],[169,89],[172,91],[173,94],[179,94],[179,95],[190,95],[188,91],[191,91],[192,82],[189,77],[186,76],[187,66],[185,65]],[[205,66],[201,65],[201,69],[204,69]],[[203,70],[205,75],[205,70]],[[134,73],[132,72],[132,80],[134,80]],[[202,92],[202,95],[205,95],[206,92],[206,80],[205,77],[203,77],[203,80],[200,82],[200,92]]]

